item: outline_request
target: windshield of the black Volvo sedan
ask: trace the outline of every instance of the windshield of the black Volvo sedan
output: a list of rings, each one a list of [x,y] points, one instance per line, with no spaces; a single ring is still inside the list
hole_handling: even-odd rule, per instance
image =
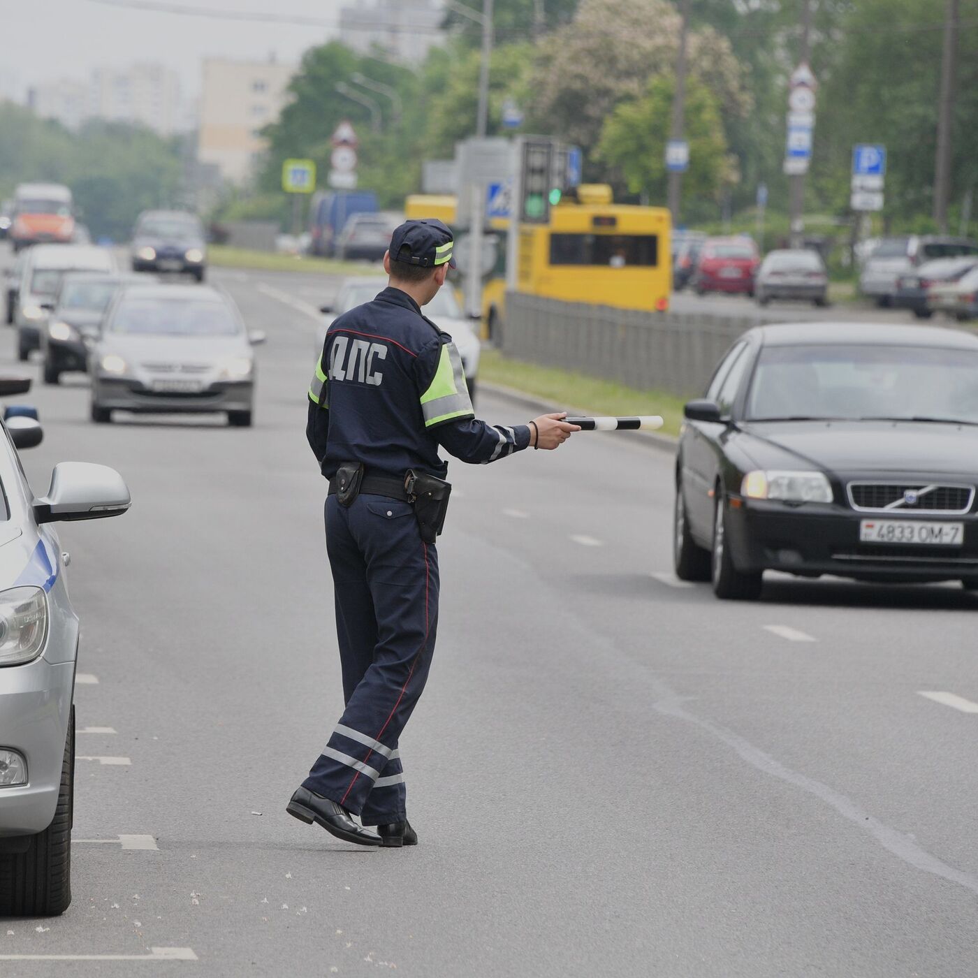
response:
[[[978,349],[768,346],[754,370],[746,417],[978,424]]]

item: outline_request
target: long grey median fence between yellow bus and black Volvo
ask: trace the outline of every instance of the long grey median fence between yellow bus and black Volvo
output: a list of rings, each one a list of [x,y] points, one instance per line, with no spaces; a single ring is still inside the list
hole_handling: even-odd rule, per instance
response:
[[[756,316],[643,312],[508,292],[501,349],[541,366],[688,397],[702,392],[736,337],[757,322]]]

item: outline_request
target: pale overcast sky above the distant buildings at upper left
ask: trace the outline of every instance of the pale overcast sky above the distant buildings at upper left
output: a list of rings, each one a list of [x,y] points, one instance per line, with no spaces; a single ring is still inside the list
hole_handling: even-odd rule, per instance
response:
[[[124,0],[133,7],[150,0]],[[363,0],[153,0],[196,10],[308,17],[335,23],[339,9]],[[87,78],[93,67],[160,62],[179,72],[184,93],[200,90],[207,56],[297,62],[334,31],[325,25],[236,22],[123,9],[94,0],[0,0],[4,88],[61,77]],[[13,78],[11,77],[13,76]]]

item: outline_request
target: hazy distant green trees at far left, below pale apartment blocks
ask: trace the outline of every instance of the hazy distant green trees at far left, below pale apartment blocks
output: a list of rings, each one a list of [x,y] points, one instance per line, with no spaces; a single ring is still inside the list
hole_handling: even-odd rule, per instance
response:
[[[179,202],[180,146],[149,129],[90,122],[68,132],[9,103],[0,104],[0,186],[67,184],[94,239],[124,241],[141,210]]]

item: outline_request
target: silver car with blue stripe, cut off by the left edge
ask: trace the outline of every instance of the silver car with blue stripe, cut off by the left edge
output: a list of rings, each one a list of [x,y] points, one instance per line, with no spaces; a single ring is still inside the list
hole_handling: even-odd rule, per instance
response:
[[[78,618],[52,524],[117,516],[130,503],[118,472],[84,462],[56,466],[35,498],[17,448],[41,436],[31,418],[0,426],[0,915],[56,914],[71,902]]]

